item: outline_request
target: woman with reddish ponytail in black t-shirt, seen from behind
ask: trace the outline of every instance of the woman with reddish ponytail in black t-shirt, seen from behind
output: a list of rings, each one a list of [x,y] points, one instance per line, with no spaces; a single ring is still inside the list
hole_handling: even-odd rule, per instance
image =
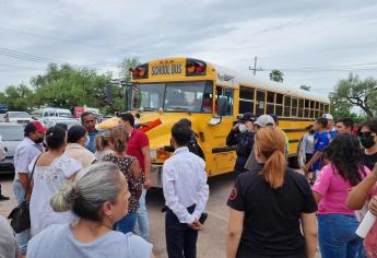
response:
[[[261,128],[254,151],[259,166],[237,178],[227,201],[227,257],[315,257],[317,204],[305,176],[286,166],[283,132]]]

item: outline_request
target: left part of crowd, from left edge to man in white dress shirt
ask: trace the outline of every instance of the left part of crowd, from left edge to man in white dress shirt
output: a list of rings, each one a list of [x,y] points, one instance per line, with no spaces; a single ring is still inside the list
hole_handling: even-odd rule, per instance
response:
[[[31,228],[14,236],[1,218],[9,242],[1,242],[8,248],[0,245],[0,256],[154,257],[145,208],[152,186],[149,139],[134,128],[132,114],[119,118],[121,125],[103,132],[91,113],[71,128],[25,126],[14,155],[13,191],[19,204],[30,201]],[[166,149],[174,155],[162,178],[167,253],[196,257],[209,198],[205,163],[190,120],[174,125],[170,142]]]

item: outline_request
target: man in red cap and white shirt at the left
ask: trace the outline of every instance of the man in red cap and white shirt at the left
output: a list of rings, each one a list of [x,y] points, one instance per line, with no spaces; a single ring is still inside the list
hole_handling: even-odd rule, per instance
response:
[[[30,185],[31,162],[44,152],[43,141],[47,128],[39,121],[32,121],[25,126],[25,138],[21,141],[14,152],[14,180],[13,192],[17,200],[17,204],[24,201],[25,191]],[[26,192],[26,199],[30,200],[31,192]],[[31,238],[31,231],[26,230],[16,234],[20,251],[26,254],[27,242]]]

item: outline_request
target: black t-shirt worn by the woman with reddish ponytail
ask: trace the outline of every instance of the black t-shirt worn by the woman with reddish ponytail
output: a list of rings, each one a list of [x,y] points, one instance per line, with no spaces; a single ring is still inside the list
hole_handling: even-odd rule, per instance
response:
[[[283,186],[273,189],[261,169],[240,175],[227,201],[245,215],[237,257],[306,257],[299,220],[317,211],[308,181],[286,168]]]

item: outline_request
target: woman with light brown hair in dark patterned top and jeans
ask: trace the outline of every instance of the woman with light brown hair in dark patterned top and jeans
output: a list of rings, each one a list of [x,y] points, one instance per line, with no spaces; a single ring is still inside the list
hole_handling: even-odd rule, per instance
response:
[[[111,139],[109,144],[113,153],[104,156],[104,161],[113,162],[118,165],[120,172],[126,176],[129,191],[131,194],[128,213],[115,226],[117,231],[125,234],[132,232],[137,222],[137,210],[139,208],[139,199],[144,183],[144,176],[141,172],[139,162],[136,157],[126,155],[128,133],[123,127],[111,129]]]

